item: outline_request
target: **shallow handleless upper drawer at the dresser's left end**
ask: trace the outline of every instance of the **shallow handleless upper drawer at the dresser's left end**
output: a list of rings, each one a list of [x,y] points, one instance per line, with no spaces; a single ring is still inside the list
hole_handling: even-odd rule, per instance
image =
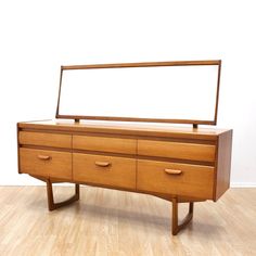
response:
[[[44,145],[55,148],[72,148],[72,136],[57,133],[43,133],[31,131],[18,132],[20,144]]]

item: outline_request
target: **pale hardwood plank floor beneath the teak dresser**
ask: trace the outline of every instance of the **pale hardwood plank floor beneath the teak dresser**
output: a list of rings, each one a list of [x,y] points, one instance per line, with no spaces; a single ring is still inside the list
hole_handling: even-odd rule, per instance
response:
[[[54,192],[63,200],[74,187]],[[255,199],[256,189],[230,189],[195,203],[172,236],[171,204],[154,196],[81,187],[80,201],[48,212],[44,187],[0,187],[0,255],[256,255]]]

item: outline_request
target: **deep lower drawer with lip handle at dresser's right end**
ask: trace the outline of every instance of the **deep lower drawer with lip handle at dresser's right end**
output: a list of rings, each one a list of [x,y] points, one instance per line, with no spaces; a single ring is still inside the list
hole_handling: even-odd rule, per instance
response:
[[[214,167],[140,159],[138,161],[137,189],[213,199]]]

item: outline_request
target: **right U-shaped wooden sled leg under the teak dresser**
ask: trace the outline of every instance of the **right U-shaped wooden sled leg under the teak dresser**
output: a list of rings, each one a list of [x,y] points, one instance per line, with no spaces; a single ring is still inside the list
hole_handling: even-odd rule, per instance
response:
[[[184,219],[181,221],[181,223],[178,223],[178,199],[171,199],[172,202],[172,227],[171,232],[172,235],[176,235],[181,229],[183,229],[193,218],[193,210],[194,210],[194,203],[190,202],[189,206],[189,213],[184,217]]]

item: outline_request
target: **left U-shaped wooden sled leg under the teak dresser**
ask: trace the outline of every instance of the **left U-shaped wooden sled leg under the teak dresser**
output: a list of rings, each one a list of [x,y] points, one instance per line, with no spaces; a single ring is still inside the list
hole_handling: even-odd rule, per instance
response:
[[[54,203],[53,191],[52,191],[52,182],[49,179],[47,179],[46,182],[47,182],[47,197],[48,197],[48,208],[49,208],[49,210],[60,208],[62,206],[72,204],[75,201],[79,200],[79,195],[80,195],[79,184],[76,184],[75,185],[75,194],[71,199],[68,199],[66,201],[63,201],[63,202],[60,202],[60,203]]]

